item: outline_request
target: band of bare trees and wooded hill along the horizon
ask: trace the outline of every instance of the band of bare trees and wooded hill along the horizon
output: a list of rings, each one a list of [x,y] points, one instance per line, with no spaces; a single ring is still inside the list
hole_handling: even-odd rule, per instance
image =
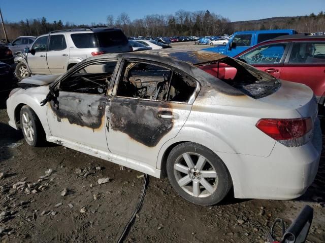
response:
[[[90,23],[75,25],[61,20],[48,22],[46,17],[26,19],[20,22],[6,22],[5,26],[9,40],[17,36],[39,36],[53,30],[79,28],[87,26],[119,27],[127,36],[218,36],[232,34],[235,31],[259,29],[295,29],[298,32],[325,31],[325,13],[310,14],[297,17],[274,17],[260,20],[231,22],[228,18],[206,11],[189,12],[178,10],[171,15],[146,15],[141,19],[131,21],[127,13],[121,13],[114,18],[108,15],[106,23]],[[4,33],[0,31],[0,39]]]

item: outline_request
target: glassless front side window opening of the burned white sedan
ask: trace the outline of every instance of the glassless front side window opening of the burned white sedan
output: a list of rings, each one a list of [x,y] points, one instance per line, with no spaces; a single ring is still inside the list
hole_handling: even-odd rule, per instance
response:
[[[59,90],[86,94],[106,94],[116,62],[96,63],[79,69],[60,83]]]

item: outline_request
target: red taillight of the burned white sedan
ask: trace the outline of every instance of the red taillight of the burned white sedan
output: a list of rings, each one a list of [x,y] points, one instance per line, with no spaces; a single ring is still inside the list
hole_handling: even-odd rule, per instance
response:
[[[275,140],[289,140],[303,137],[312,128],[310,117],[295,119],[260,119],[256,127]]]

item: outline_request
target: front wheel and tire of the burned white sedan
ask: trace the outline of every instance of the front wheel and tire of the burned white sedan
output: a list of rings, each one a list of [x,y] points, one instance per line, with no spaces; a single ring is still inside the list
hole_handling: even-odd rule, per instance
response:
[[[20,127],[28,145],[38,147],[45,141],[45,132],[34,110],[24,105],[20,110]]]

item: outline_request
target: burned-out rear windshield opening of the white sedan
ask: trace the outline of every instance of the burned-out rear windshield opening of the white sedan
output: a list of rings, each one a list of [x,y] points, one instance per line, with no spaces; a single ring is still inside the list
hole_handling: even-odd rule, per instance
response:
[[[254,99],[271,95],[281,86],[279,79],[230,57],[196,66]]]

